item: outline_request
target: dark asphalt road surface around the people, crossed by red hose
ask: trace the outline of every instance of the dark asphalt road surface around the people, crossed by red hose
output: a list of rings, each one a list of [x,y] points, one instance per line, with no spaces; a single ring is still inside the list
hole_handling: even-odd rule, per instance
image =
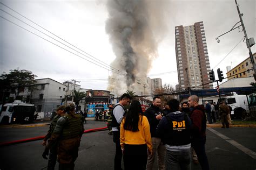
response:
[[[104,126],[106,126],[105,122],[87,121],[85,130]],[[0,142],[43,136],[48,128],[49,126],[0,128]],[[113,169],[114,143],[112,136],[109,136],[107,132],[98,131],[83,135],[75,169]],[[221,138],[215,133],[228,138],[224,136]],[[256,159],[248,155],[256,152],[255,134],[255,128],[208,128],[206,153],[210,169],[255,170]],[[0,147],[0,169],[46,169],[47,160],[41,156],[44,150],[41,142],[41,140],[37,140]],[[237,148],[235,142],[239,143],[241,147]],[[248,150],[244,150],[244,148]],[[246,151],[249,153],[245,153]],[[56,169],[58,169],[57,165]],[[200,166],[192,163],[192,169],[200,169]]]

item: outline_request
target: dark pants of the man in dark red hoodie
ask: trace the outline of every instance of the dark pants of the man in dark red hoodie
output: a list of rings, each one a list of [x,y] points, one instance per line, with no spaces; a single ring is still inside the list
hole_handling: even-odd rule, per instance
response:
[[[196,151],[197,153],[197,158],[198,158],[199,164],[201,165],[201,168],[203,170],[205,169],[208,170],[209,163],[205,153],[205,141],[206,141],[206,137],[192,138],[191,144],[192,144],[192,147],[194,148],[194,151]]]

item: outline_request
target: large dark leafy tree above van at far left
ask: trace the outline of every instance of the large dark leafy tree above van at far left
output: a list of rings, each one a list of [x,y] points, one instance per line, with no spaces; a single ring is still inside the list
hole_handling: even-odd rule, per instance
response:
[[[21,90],[24,90],[25,87],[32,87],[35,85],[37,77],[32,72],[22,69],[10,70],[9,74],[3,72],[0,76],[0,89],[1,91],[10,91],[15,94],[15,98],[19,96]]]

